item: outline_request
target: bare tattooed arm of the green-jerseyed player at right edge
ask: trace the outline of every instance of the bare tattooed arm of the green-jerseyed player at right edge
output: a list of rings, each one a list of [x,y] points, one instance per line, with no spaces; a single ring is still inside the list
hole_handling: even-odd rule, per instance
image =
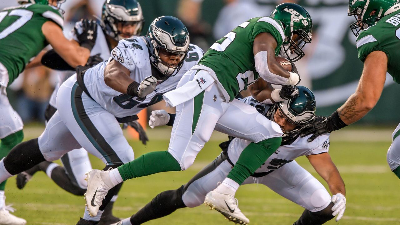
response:
[[[350,125],[374,108],[382,94],[387,69],[386,53],[374,51],[366,57],[356,92],[338,108],[339,117],[344,123]]]

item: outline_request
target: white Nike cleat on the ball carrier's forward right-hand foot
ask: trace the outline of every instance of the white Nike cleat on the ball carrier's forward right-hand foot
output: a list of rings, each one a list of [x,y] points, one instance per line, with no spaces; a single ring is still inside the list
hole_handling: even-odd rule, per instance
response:
[[[240,211],[238,207],[238,200],[232,195],[221,194],[218,191],[210,191],[207,193],[204,199],[206,206],[208,205],[212,209],[220,212],[229,221],[235,224],[246,225],[250,221],[247,217]]]

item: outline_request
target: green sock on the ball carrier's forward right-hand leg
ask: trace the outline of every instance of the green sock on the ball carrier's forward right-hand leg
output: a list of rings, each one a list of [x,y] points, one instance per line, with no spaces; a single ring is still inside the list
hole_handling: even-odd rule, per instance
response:
[[[243,149],[238,161],[228,174],[227,178],[234,180],[239,185],[250,177],[280,146],[282,137],[274,137],[250,143]]]

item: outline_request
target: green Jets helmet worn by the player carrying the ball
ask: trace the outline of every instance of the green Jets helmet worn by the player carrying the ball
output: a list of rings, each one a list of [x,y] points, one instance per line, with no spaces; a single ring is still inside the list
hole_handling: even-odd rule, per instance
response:
[[[302,48],[311,42],[312,20],[310,14],[294,3],[283,3],[275,7],[270,17],[282,22],[285,40],[282,48],[292,62],[304,56]]]

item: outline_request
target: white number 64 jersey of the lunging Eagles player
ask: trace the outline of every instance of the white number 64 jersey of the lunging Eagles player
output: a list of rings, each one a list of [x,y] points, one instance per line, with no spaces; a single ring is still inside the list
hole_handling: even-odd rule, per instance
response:
[[[128,68],[130,78],[139,83],[147,76],[152,75],[152,65],[145,38],[136,37],[121,40],[111,52],[111,58]],[[117,119],[132,117],[143,108],[161,101],[164,93],[174,90],[186,71],[197,65],[202,56],[202,50],[198,46],[190,44],[188,57],[179,72],[163,82],[157,82],[156,90],[144,98],[132,97],[106,85],[104,68],[109,60],[88,69],[84,75],[84,83],[90,96]]]

